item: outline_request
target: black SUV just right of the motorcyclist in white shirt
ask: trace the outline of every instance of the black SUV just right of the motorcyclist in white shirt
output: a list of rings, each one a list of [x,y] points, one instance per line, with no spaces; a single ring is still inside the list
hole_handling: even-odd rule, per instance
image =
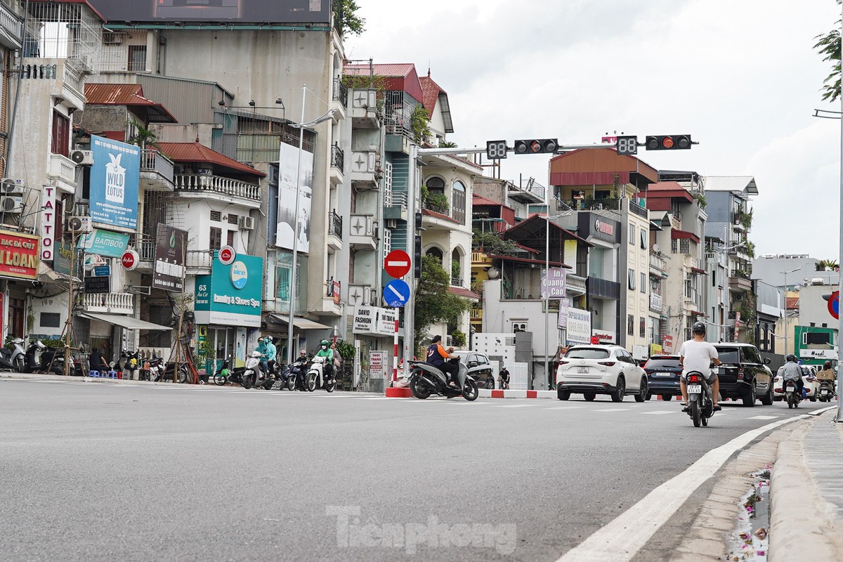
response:
[[[720,395],[726,399],[741,399],[744,406],[754,406],[755,399],[761,404],[773,404],[773,381],[770,363],[761,359],[758,348],[751,344],[715,344],[722,363],[714,372],[720,380]]]

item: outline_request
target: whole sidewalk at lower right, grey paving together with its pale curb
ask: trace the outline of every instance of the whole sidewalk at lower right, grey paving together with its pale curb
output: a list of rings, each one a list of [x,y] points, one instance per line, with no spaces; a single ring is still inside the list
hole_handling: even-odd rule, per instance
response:
[[[812,416],[779,443],[770,486],[771,562],[843,560],[843,423],[835,413]]]

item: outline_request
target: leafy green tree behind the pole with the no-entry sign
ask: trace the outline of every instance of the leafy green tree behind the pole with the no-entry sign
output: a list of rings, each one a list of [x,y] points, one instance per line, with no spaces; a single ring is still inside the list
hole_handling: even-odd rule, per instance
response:
[[[421,257],[421,279],[416,286],[416,338],[414,349],[427,337],[427,329],[437,322],[458,324],[470,301],[448,291],[451,277],[442,262],[430,255]]]

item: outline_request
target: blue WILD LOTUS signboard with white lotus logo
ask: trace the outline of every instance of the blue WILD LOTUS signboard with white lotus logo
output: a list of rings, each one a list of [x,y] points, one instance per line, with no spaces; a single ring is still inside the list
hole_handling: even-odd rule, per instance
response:
[[[91,219],[136,230],[140,147],[92,135],[91,151]]]

